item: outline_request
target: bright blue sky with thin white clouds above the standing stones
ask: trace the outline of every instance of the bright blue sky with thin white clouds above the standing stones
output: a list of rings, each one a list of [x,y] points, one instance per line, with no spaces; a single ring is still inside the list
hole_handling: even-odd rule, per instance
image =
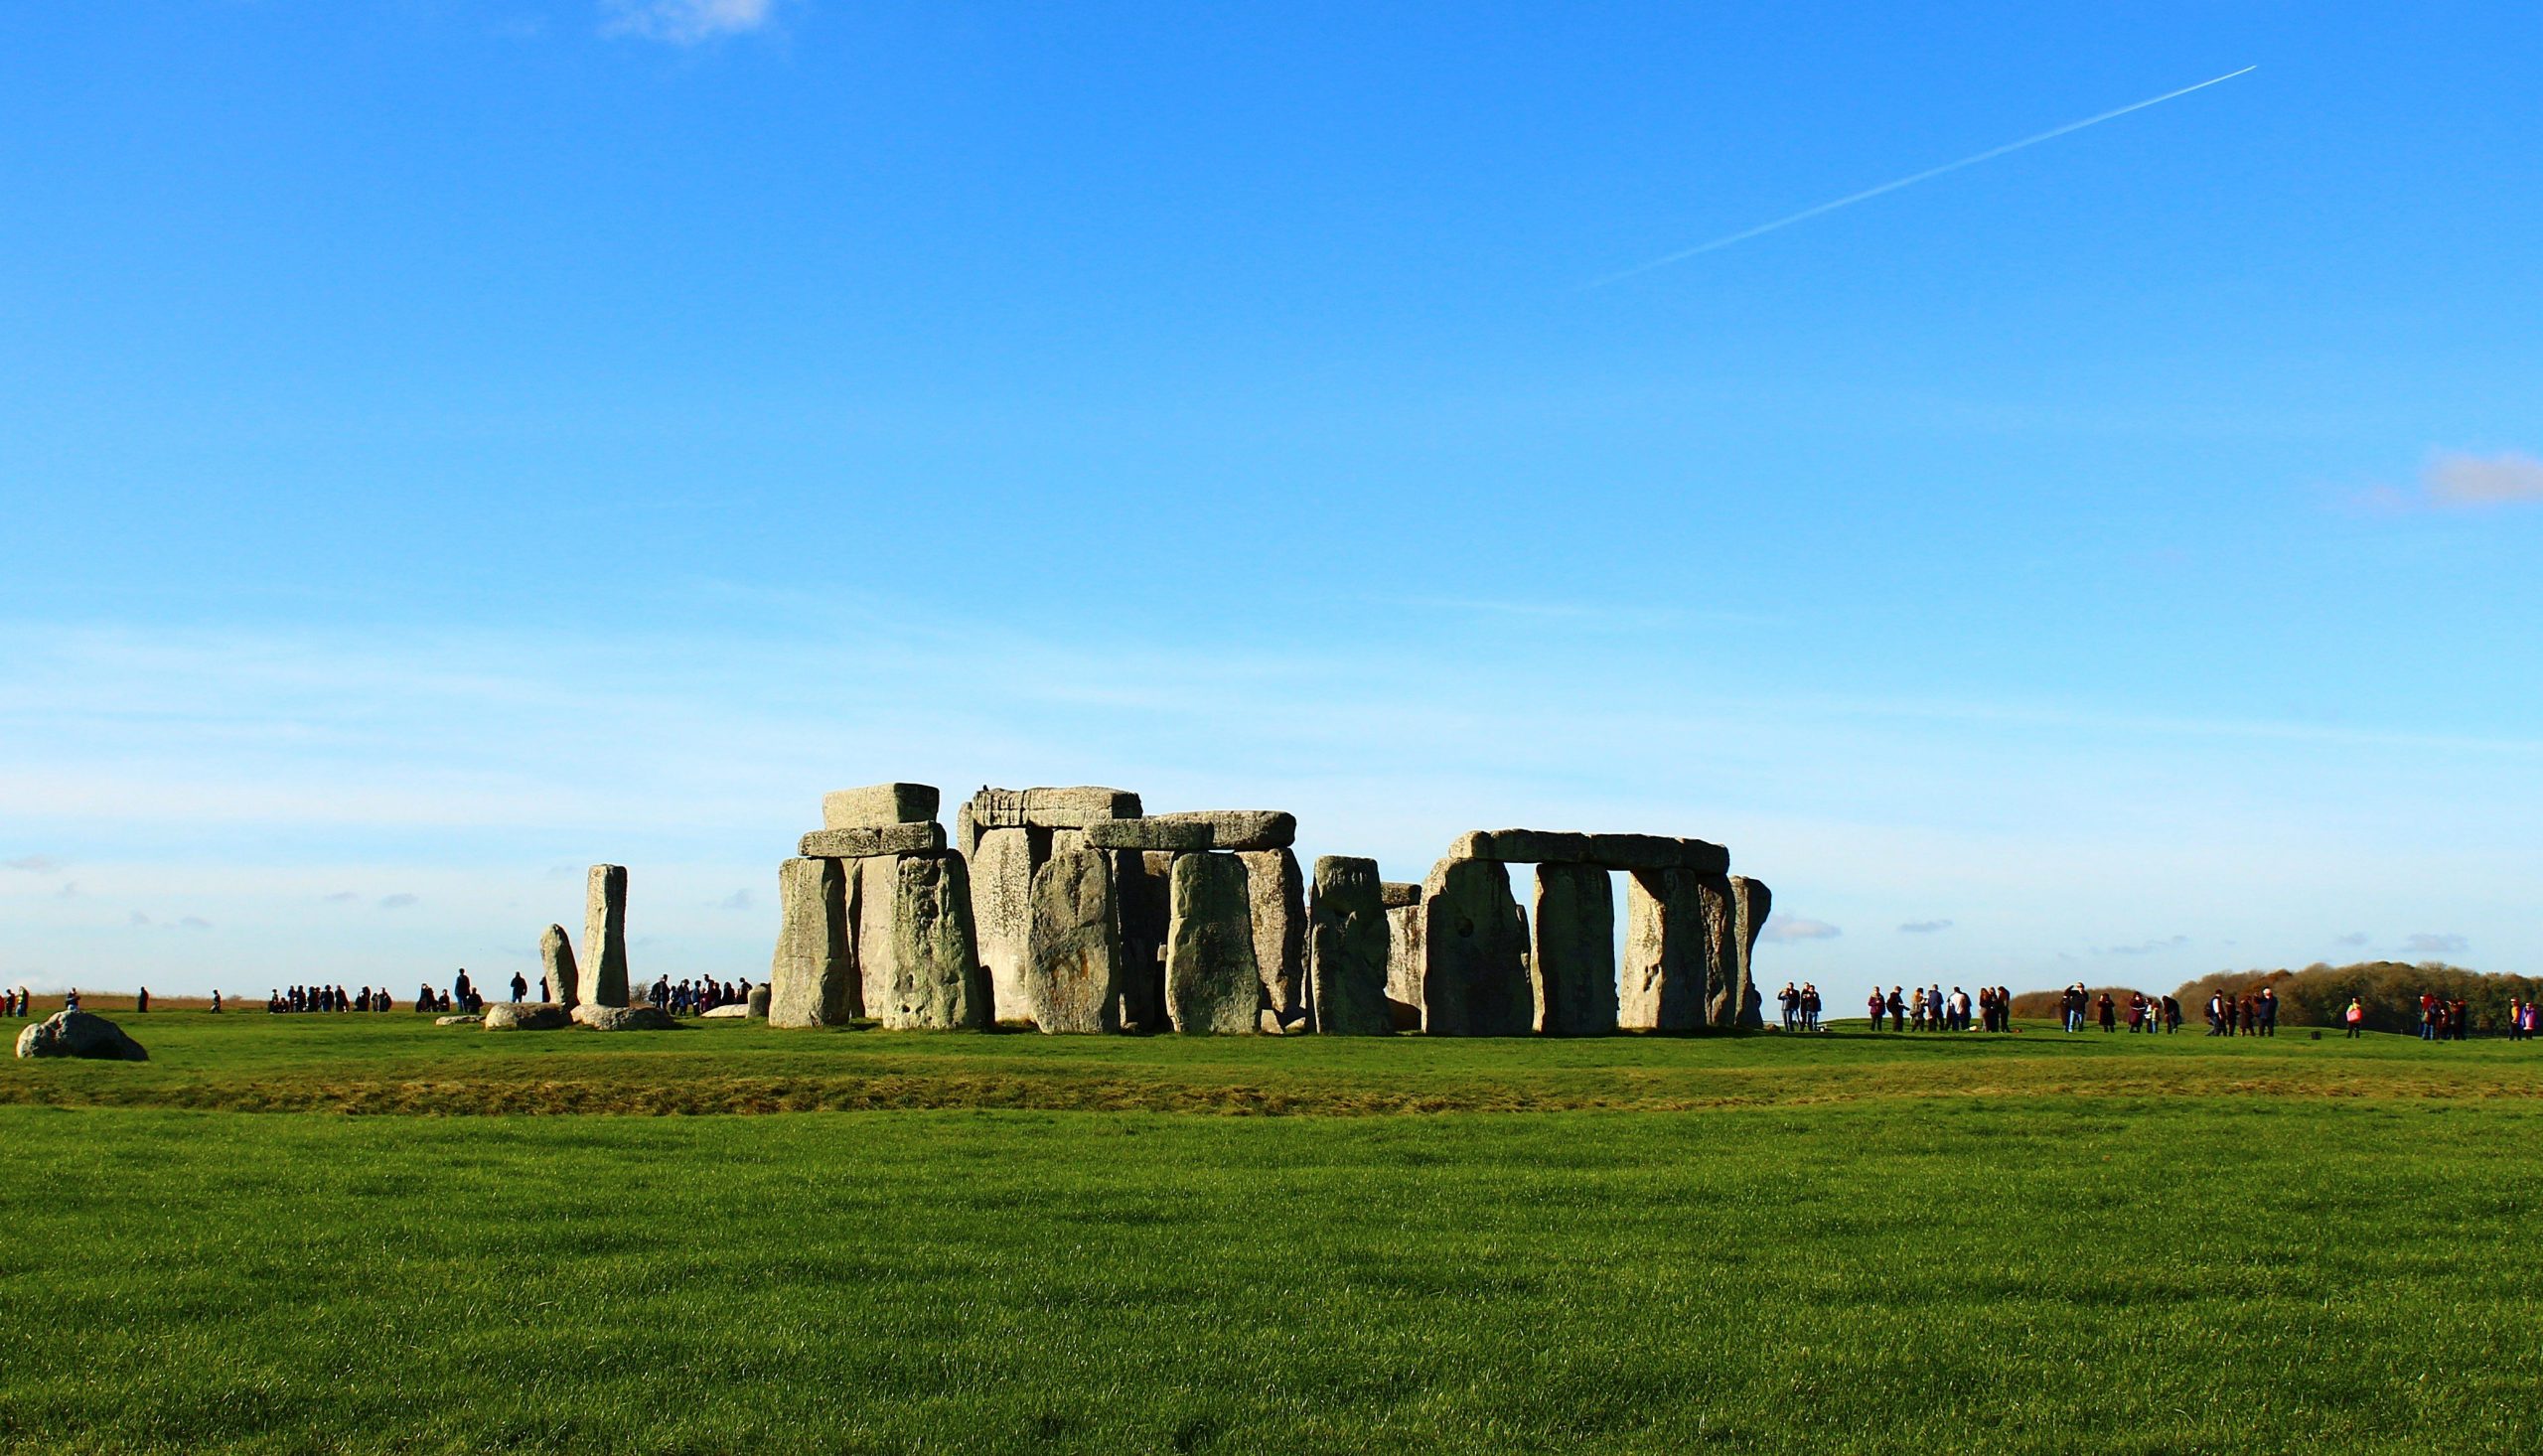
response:
[[[2535,971],[2543,20],[1900,10],[0,10],[0,978],[758,978],[885,778]]]

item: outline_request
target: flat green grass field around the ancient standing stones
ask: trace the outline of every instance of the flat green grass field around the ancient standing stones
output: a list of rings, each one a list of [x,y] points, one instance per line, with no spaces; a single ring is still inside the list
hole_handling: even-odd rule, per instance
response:
[[[2543,1441],[2535,1044],[122,1021],[8,1448]]]

